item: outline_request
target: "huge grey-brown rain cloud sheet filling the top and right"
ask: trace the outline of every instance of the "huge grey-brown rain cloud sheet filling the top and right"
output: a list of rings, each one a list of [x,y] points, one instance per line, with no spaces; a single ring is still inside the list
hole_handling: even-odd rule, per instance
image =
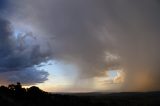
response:
[[[53,58],[75,64],[81,77],[113,67],[127,90],[159,90],[160,4],[157,0],[21,0],[14,21],[50,39]],[[107,54],[119,58],[106,60]],[[127,87],[126,87],[127,86]]]

